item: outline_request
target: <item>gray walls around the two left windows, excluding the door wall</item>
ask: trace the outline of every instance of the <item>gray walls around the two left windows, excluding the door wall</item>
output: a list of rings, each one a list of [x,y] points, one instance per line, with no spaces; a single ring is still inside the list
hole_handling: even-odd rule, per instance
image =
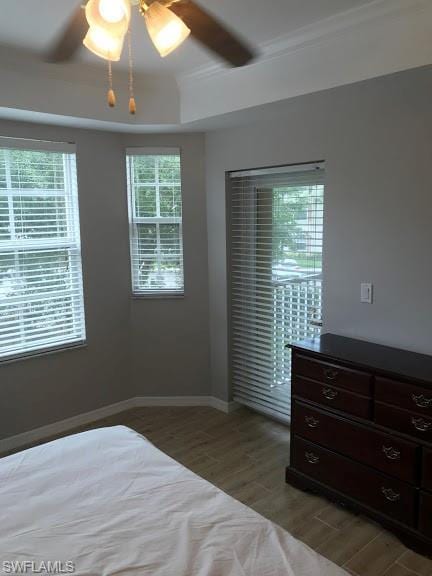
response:
[[[77,144],[87,327],[84,348],[0,363],[0,438],[136,394],[208,393],[203,137],[122,136],[6,121],[0,135]],[[124,162],[130,145],[182,148],[184,300],[131,299]]]

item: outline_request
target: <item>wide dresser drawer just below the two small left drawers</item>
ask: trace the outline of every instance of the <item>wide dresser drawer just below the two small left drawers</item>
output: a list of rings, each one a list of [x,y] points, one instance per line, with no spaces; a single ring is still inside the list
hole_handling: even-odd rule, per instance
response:
[[[349,422],[297,401],[293,405],[291,427],[298,436],[373,466],[390,476],[411,483],[417,479],[419,447],[412,442]]]

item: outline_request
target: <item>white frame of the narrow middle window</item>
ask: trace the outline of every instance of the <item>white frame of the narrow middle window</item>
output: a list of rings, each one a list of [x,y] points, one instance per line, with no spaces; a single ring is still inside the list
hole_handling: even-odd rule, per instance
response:
[[[159,187],[163,187],[163,183],[158,180],[155,181],[156,190],[156,216],[137,216],[136,203],[135,203],[135,186],[133,182],[133,174],[130,165],[130,158],[133,156],[178,156],[180,160],[180,199],[181,199],[181,215],[180,216],[160,216],[160,193]],[[184,266],[184,236],[183,236],[183,161],[182,151],[179,147],[128,147],[125,152],[126,160],[126,174],[127,174],[127,200],[128,200],[128,219],[129,219],[129,255],[130,255],[130,270],[131,270],[131,295],[135,300],[141,299],[182,299],[185,297],[185,266]],[[168,184],[168,183],[167,183]],[[156,226],[156,245],[160,247],[160,225],[178,225],[179,226],[179,246],[180,246],[180,263],[182,271],[182,288],[178,290],[137,290],[136,289],[136,275],[137,271],[134,266],[134,253],[138,248],[138,226],[150,225]],[[176,260],[176,255],[161,255],[155,254],[151,259],[154,261],[163,260]]]

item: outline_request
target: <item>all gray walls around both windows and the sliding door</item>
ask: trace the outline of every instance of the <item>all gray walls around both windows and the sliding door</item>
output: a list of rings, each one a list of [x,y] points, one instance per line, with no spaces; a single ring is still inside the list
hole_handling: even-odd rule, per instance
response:
[[[241,126],[207,135],[206,166],[200,135],[0,122],[4,136],[77,143],[88,334],[0,364],[0,438],[135,395],[230,397],[227,170],[325,159],[325,329],[432,354],[431,94],[424,68],[236,114],[222,121]],[[182,149],[184,299],[131,298],[124,148],[146,145]]]

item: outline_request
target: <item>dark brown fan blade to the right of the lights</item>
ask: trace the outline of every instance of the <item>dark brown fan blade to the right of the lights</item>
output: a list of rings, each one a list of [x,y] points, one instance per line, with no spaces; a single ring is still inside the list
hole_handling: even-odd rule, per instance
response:
[[[174,1],[169,8],[190,28],[196,40],[231,66],[244,66],[255,57],[244,42],[192,0]]]

